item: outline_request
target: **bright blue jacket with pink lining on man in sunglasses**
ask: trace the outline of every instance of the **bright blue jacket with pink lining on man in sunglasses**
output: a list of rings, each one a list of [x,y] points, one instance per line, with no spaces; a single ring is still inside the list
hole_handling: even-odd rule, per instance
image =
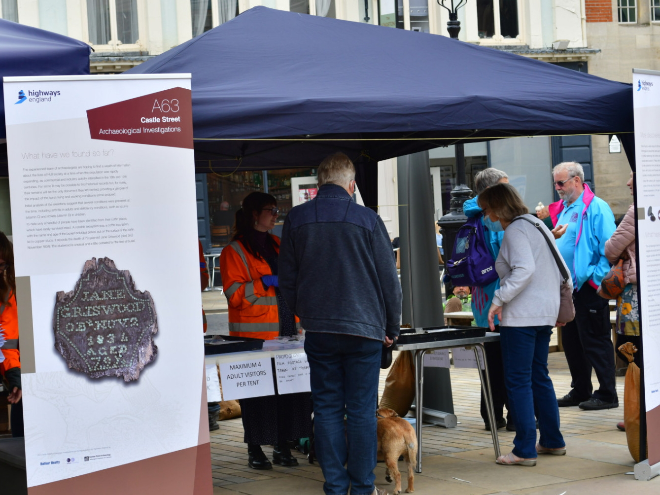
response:
[[[585,283],[598,288],[603,277],[610,271],[610,263],[605,257],[605,242],[616,230],[612,210],[589,189],[589,185],[584,184],[584,191],[579,198],[585,206],[581,218],[577,219],[579,226],[574,246],[573,266],[569,267],[576,279],[578,290]],[[553,225],[566,223],[567,220],[562,216],[565,207],[566,201],[557,201],[548,207]],[[556,241],[560,249],[562,242],[566,242],[563,237]]]

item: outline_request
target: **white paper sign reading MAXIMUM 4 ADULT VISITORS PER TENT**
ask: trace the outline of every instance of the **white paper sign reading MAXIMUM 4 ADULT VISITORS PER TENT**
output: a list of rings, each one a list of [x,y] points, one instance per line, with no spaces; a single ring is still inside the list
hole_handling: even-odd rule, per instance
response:
[[[271,358],[220,364],[225,401],[275,395]]]

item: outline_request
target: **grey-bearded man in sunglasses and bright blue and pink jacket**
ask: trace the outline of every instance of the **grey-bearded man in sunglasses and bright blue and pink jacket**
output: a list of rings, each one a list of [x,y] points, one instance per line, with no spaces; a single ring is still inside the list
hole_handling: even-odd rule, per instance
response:
[[[554,226],[566,225],[566,232],[556,244],[576,288],[576,317],[562,330],[573,389],[557,402],[560,407],[579,405],[586,410],[618,407],[609,302],[596,294],[610,269],[605,241],[616,228],[614,215],[609,205],[584,183],[579,163],[560,163],[552,170],[552,176],[561,200],[552,203],[548,211]],[[596,391],[591,383],[591,368],[600,385]]]

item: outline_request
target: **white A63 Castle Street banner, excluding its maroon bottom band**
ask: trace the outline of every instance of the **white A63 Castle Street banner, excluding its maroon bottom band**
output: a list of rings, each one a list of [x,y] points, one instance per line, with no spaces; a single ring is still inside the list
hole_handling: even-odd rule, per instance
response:
[[[18,300],[32,307],[32,327],[21,326],[34,341],[22,375],[28,486],[197,446],[189,75],[4,81],[16,278],[30,287]],[[84,292],[94,258],[127,271],[116,277],[126,288]],[[77,305],[56,310],[58,292]],[[137,345],[151,335],[156,348]],[[100,376],[124,365],[122,377]]]

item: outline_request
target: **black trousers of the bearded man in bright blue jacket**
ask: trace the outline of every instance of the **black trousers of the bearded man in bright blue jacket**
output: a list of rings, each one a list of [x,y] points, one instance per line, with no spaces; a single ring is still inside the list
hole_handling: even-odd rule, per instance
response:
[[[595,288],[588,283],[574,292],[573,302],[576,319],[562,330],[564,354],[573,379],[570,394],[582,400],[591,397],[593,368],[599,383],[593,397],[605,402],[618,401],[609,302],[596,294]]]

